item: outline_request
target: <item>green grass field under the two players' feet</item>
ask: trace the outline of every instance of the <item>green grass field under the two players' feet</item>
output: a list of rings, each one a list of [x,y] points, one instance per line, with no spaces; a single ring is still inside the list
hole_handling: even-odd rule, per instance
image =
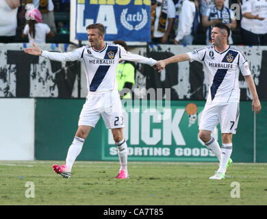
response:
[[[71,179],[56,175],[54,163],[62,164],[1,161],[0,205],[267,205],[266,164],[233,163],[213,181],[216,163],[129,162],[127,180],[114,179],[118,162],[75,162]],[[29,181],[34,198],[25,196]],[[231,197],[233,182],[240,198]]]

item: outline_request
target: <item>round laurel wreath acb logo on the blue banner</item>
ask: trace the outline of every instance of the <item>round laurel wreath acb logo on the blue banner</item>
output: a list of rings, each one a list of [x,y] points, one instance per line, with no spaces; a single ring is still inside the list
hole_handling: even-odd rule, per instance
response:
[[[128,12],[128,8],[125,8],[123,9],[123,12],[121,12],[120,14],[120,23],[126,29],[140,30],[147,24],[147,21],[148,21],[147,10],[142,9],[142,14],[140,14],[140,12],[137,12],[137,14],[127,14],[127,12]],[[138,23],[134,27],[128,22],[128,21],[139,21],[139,20],[140,20],[140,23]]]

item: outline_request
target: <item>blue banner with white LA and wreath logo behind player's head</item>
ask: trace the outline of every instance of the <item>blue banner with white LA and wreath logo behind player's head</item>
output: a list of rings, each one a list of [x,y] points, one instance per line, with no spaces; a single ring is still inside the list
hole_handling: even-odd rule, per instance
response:
[[[88,40],[86,27],[105,26],[105,40],[151,41],[150,0],[77,0],[77,40]]]

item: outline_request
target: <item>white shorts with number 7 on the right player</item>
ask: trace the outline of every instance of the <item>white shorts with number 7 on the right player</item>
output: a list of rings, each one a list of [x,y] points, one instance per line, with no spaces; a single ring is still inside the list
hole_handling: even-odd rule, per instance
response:
[[[200,118],[199,130],[213,131],[220,123],[221,133],[236,133],[239,103],[206,103]]]

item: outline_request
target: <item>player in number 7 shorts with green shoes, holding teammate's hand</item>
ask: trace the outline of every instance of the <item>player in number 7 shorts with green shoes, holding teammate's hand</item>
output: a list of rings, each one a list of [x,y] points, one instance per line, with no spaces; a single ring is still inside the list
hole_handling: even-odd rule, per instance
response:
[[[216,174],[209,179],[225,179],[227,167],[232,162],[230,158],[233,149],[232,136],[236,133],[239,119],[238,75],[240,71],[253,95],[252,110],[255,110],[257,114],[262,109],[244,53],[227,44],[229,33],[230,29],[226,25],[214,25],[212,46],[174,55],[166,60],[160,60],[156,64],[161,72],[170,63],[186,60],[198,61],[204,65],[205,71],[209,75],[209,94],[201,116],[199,138],[220,161]],[[223,141],[221,149],[211,135],[218,123],[220,123]]]

